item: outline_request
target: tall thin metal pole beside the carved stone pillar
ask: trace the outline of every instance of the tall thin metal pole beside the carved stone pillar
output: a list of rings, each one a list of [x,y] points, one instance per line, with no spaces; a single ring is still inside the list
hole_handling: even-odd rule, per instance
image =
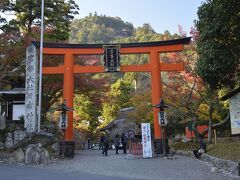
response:
[[[41,39],[40,39],[39,87],[38,87],[38,132],[40,132],[41,106],[42,106],[43,19],[44,19],[44,0],[42,0],[41,9]]]

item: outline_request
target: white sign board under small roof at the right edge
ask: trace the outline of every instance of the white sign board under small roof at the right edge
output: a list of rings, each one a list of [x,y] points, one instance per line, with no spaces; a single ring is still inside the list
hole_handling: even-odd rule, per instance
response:
[[[240,134],[240,93],[229,99],[232,134]]]

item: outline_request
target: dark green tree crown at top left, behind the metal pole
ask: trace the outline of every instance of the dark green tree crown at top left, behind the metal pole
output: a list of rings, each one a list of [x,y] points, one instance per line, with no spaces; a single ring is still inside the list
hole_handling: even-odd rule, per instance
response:
[[[78,6],[73,0],[46,0],[44,7],[44,24],[46,36],[55,41],[67,40],[73,15]],[[22,33],[35,36],[34,29],[41,23],[41,0],[3,0],[1,13],[14,15],[1,27],[3,32],[9,28],[18,28]]]

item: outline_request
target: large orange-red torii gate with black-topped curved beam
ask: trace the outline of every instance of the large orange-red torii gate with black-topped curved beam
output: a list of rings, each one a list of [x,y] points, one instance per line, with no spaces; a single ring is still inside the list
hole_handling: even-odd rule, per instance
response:
[[[158,104],[162,95],[161,71],[182,71],[183,63],[167,64],[160,61],[159,53],[177,52],[183,50],[183,45],[189,44],[191,38],[182,38],[168,41],[123,43],[120,45],[120,54],[149,54],[150,63],[142,65],[122,65],[121,72],[150,72],[152,84],[152,104]],[[39,43],[34,43],[39,46]],[[103,44],[55,44],[44,43],[43,54],[63,55],[64,65],[57,67],[43,67],[43,74],[63,74],[63,98],[67,106],[73,108],[74,74],[104,73],[103,66],[80,66],[74,64],[74,55],[102,55]],[[161,139],[162,133],[158,124],[159,109],[153,108],[154,137]],[[68,127],[65,141],[73,142],[73,112],[68,112]]]

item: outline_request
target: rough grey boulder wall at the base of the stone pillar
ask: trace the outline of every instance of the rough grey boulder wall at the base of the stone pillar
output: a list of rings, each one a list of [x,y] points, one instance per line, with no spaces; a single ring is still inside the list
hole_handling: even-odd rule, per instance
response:
[[[0,161],[8,163],[47,164],[59,154],[57,139],[51,133],[8,132],[0,145]]]

